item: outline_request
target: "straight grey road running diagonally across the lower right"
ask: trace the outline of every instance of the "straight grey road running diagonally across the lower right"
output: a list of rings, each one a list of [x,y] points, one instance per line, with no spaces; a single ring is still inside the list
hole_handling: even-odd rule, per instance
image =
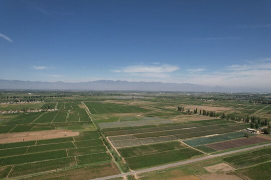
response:
[[[137,171],[133,171],[133,172],[126,172],[126,173],[110,175],[110,176],[106,176],[106,177],[99,177],[99,178],[95,178],[93,180],[106,180],[106,179],[110,179],[110,178],[122,177],[122,176],[125,176],[125,175],[132,175],[132,174],[138,174],[138,173],[149,172],[149,171],[154,171],[154,170],[160,170],[160,169],[164,169],[164,168],[168,168],[168,167],[174,167],[174,166],[177,166],[177,165],[184,165],[184,164],[188,164],[188,163],[192,163],[192,162],[197,162],[197,161],[200,161],[200,160],[206,160],[206,159],[210,159],[210,158],[214,158],[214,157],[233,154],[233,153],[236,153],[236,152],[242,152],[242,151],[246,151],[246,150],[252,150],[252,149],[256,149],[256,148],[264,147],[264,146],[269,146],[269,145],[271,145],[271,143],[252,146],[252,147],[247,147],[247,148],[243,148],[243,149],[232,150],[232,151],[228,151],[228,152],[223,152],[223,153],[219,153],[219,154],[214,154],[214,155],[195,158],[195,159],[190,159],[190,160],[185,160],[185,161],[182,161],[182,162],[176,162],[176,163],[161,165],[161,166],[157,166],[157,167],[146,168],[146,169],[137,170]]]

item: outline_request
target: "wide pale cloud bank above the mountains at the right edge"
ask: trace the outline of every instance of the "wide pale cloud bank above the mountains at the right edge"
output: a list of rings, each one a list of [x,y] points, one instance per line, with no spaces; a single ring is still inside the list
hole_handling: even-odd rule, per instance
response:
[[[227,87],[255,87],[271,89],[270,58],[232,64],[219,71],[190,73],[182,82]]]

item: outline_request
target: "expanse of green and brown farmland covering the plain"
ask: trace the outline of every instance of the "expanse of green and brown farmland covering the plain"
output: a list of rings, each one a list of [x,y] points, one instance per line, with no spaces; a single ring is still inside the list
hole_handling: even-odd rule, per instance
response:
[[[205,98],[220,96],[203,93],[192,98],[185,93],[152,92],[144,96],[139,93],[141,98],[137,95],[125,98],[126,93],[122,92],[118,98],[116,92],[99,93],[102,95],[48,97],[40,104],[35,103],[38,109],[52,107],[56,108],[54,111],[0,114],[0,118],[3,117],[0,121],[1,177],[70,179],[76,175],[79,179],[96,178],[271,141],[269,135],[263,134],[245,137],[243,131],[251,126],[253,116],[259,127],[267,127],[271,120],[269,104],[236,101],[228,94],[223,94],[221,100],[209,101]],[[18,104],[9,104],[9,108],[12,105],[17,108]],[[5,106],[7,104],[0,105]],[[184,107],[184,111],[178,111],[178,106]],[[215,111],[216,115],[200,114],[203,110]],[[217,167],[212,167],[216,163],[211,161],[196,164],[209,165],[206,169],[226,168],[228,164],[232,171],[252,177],[248,164],[264,169],[268,166],[269,154],[267,148],[218,158],[214,160]],[[248,156],[259,162],[246,161]],[[171,174],[176,173],[190,179],[213,178],[206,176],[208,170],[196,164],[158,174],[161,179],[170,179]],[[147,173],[134,178],[160,177]]]

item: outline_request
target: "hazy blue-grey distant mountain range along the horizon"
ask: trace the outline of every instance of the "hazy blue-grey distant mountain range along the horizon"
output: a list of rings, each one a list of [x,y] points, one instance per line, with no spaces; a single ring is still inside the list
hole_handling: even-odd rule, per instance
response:
[[[190,83],[129,82],[126,80],[95,80],[88,82],[41,82],[1,80],[0,89],[59,89],[59,90],[150,90],[150,91],[199,91],[199,92],[271,92],[270,89],[205,86]]]

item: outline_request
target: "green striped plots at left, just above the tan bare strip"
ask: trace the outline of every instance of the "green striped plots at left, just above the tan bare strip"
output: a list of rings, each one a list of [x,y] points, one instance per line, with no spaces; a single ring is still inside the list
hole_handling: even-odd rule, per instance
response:
[[[51,130],[58,127],[84,129],[92,124],[85,109],[57,110],[51,112],[24,112],[0,125],[0,133]]]

